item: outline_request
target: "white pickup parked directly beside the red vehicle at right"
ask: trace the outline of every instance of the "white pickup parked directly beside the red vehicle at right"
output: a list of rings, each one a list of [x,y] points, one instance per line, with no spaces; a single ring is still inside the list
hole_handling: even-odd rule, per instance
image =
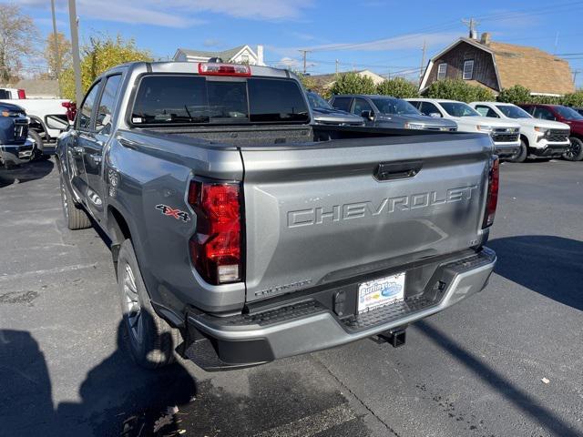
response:
[[[474,102],[470,107],[482,117],[512,120],[520,125],[520,152],[512,159],[514,162],[560,157],[569,147],[569,126],[565,123],[534,118],[511,103]]]

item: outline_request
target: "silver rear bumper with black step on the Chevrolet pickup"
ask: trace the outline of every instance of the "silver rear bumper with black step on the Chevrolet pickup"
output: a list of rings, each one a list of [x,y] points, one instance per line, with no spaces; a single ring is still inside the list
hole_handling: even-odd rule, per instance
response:
[[[427,285],[431,288],[440,281],[446,284],[444,290],[432,295],[433,299],[405,299],[348,318],[341,319],[308,298],[252,317],[190,314],[189,329],[210,339],[221,362],[259,364],[340,346],[424,319],[483,290],[495,264],[495,252],[486,248],[470,257],[450,259],[439,266]],[[196,336],[196,332],[192,335]],[[192,347],[196,349],[196,342]],[[197,351],[187,355],[194,358]]]

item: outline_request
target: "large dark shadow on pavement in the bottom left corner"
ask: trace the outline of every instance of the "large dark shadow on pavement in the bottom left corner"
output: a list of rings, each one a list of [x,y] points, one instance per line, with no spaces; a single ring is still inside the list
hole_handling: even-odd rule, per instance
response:
[[[161,412],[188,403],[196,383],[179,363],[159,371],[136,366],[125,351],[124,332],[120,324],[118,349],[87,372],[78,389],[81,401],[54,408],[45,354],[36,340],[25,330],[0,330],[0,434],[153,435]],[[170,435],[178,430],[174,415],[162,424]]]

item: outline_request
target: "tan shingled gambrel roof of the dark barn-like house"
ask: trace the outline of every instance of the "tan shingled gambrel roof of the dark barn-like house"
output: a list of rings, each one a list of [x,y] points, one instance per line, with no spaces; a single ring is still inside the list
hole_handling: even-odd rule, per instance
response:
[[[464,42],[492,54],[501,89],[521,85],[537,94],[563,95],[575,91],[568,61],[536,47],[516,46],[495,41],[482,44],[475,39],[459,38],[454,44],[435,55],[430,63]],[[428,73],[429,68],[425,72],[423,85]]]

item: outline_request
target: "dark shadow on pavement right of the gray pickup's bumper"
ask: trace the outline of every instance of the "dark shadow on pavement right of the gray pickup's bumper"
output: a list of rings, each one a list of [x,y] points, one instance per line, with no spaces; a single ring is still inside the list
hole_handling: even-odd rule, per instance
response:
[[[552,300],[583,310],[583,241],[524,235],[488,241],[496,273]]]

